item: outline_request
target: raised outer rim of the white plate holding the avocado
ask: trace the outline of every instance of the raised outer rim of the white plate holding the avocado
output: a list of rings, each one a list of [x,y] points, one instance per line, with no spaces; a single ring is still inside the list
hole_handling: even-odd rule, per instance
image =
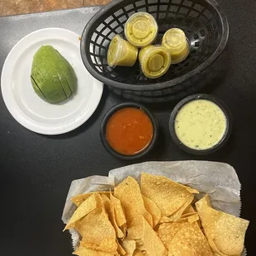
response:
[[[99,102],[102,99],[102,92],[103,92],[103,87],[104,84],[100,81],[98,81],[96,78],[93,78],[92,75],[88,72],[88,70],[85,68],[85,66],[83,65],[83,61],[81,59],[81,64],[83,65],[83,68],[86,69],[86,71],[88,72],[88,75],[90,75],[92,77],[92,94],[89,97],[88,100],[88,104],[87,106],[84,108],[88,109],[88,111],[82,111],[82,114],[79,115],[79,117],[83,116],[83,118],[78,118],[78,121],[72,121],[73,125],[70,126],[70,121],[67,122],[66,124],[64,124],[63,126],[59,126],[59,127],[52,127],[49,129],[45,129],[45,125],[42,126],[41,128],[38,128],[38,125],[33,125],[33,121],[36,122],[34,119],[30,118],[29,116],[26,116],[26,114],[21,111],[21,109],[18,107],[14,96],[12,94],[12,96],[7,95],[7,87],[10,86],[10,83],[3,83],[3,79],[6,76],[6,73],[12,73],[13,71],[13,67],[16,64],[16,62],[13,62],[12,64],[12,69],[11,70],[7,70],[7,64],[9,64],[10,59],[12,58],[13,55],[13,51],[17,49],[17,47],[19,47],[19,45],[24,41],[27,40],[27,38],[34,36],[34,34],[38,34],[38,33],[42,33],[45,31],[61,31],[62,33],[69,33],[69,35],[73,34],[73,36],[77,36],[79,37],[78,34],[76,34],[73,31],[69,31],[67,29],[64,28],[59,28],[59,27],[49,27],[49,28],[43,28],[40,30],[36,30],[36,31],[32,31],[30,34],[24,36],[21,38],[21,40],[18,40],[17,43],[12,47],[12,49],[10,50],[10,52],[7,55],[7,58],[4,61],[4,64],[2,66],[2,74],[1,74],[1,91],[2,91],[2,98],[3,98],[3,102],[5,103],[5,106],[7,107],[7,110],[9,111],[9,113],[12,115],[12,117],[23,127],[25,127],[28,130],[31,130],[33,132],[36,132],[38,134],[42,134],[42,135],[61,135],[64,133],[68,133],[71,130],[75,130],[77,129],[79,126],[82,126],[83,123],[85,123],[86,121],[88,121],[88,119],[92,116],[92,114],[94,113],[94,111],[96,111]],[[56,36],[56,38],[58,38],[58,36]],[[29,48],[30,46],[28,46]],[[80,55],[79,55],[80,56]],[[5,81],[6,82],[6,81]],[[4,85],[7,84],[7,85]],[[15,102],[15,106],[12,105],[12,103]],[[93,102],[93,104],[92,104]],[[90,106],[88,108],[88,106]],[[26,118],[24,116],[19,116],[18,114],[23,114],[24,116],[26,116]]]

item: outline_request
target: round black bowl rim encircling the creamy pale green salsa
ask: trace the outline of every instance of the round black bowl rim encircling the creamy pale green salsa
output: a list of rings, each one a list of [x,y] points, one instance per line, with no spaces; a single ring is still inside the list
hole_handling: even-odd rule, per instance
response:
[[[220,109],[224,112],[225,117],[226,117],[225,134],[223,135],[223,137],[219,141],[219,143],[217,145],[214,145],[210,149],[197,150],[197,149],[192,149],[192,148],[187,147],[187,145],[184,145],[178,139],[178,136],[176,135],[175,128],[174,128],[175,119],[178,114],[178,111],[184,105],[186,105],[187,102],[192,102],[192,101],[198,100],[198,99],[203,99],[203,100],[208,100],[208,101],[214,102],[218,107],[220,107]],[[211,154],[211,153],[216,152],[218,149],[222,148],[225,145],[225,143],[227,142],[227,140],[229,140],[231,130],[232,130],[232,116],[231,116],[230,110],[228,109],[228,107],[226,107],[225,103],[221,102],[220,100],[217,100],[216,97],[213,97],[209,94],[194,94],[194,95],[185,97],[181,102],[178,102],[176,107],[174,107],[172,114],[170,116],[170,120],[169,120],[169,130],[170,130],[170,133],[171,133],[171,136],[172,136],[174,142],[176,143],[176,145],[178,145],[178,147],[180,149],[183,149],[184,151],[186,151],[189,154],[197,154],[197,155]]]

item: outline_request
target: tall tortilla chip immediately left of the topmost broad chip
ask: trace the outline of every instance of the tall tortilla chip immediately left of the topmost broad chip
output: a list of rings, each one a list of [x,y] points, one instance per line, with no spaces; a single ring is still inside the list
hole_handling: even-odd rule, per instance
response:
[[[145,209],[140,193],[140,186],[134,178],[128,176],[122,183],[115,187],[114,196],[121,201],[121,205],[126,211],[128,224],[136,216],[142,215],[149,222],[149,225],[153,226],[153,218]]]

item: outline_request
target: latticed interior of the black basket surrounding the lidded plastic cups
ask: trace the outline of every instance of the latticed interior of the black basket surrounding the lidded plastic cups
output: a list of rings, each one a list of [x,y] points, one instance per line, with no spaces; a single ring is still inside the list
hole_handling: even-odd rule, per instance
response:
[[[107,48],[116,34],[124,36],[125,23],[135,12],[149,12],[159,25],[159,36],[154,42],[159,44],[164,32],[172,27],[185,31],[191,43],[191,53],[180,64],[172,65],[163,77],[158,79],[146,78],[140,71],[140,64],[132,68],[107,65]],[[212,55],[220,41],[220,17],[211,5],[200,5],[189,0],[141,0],[118,8],[116,12],[102,19],[95,27],[89,40],[89,53],[92,66],[98,73],[121,83],[149,84],[161,83],[178,78],[195,69]]]

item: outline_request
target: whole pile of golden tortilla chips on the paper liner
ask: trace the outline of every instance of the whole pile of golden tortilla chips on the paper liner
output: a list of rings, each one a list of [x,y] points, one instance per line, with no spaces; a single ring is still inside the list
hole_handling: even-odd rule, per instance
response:
[[[147,173],[128,177],[114,192],[72,198],[78,206],[64,230],[81,236],[80,256],[238,256],[249,225],[211,207],[208,195]]]

